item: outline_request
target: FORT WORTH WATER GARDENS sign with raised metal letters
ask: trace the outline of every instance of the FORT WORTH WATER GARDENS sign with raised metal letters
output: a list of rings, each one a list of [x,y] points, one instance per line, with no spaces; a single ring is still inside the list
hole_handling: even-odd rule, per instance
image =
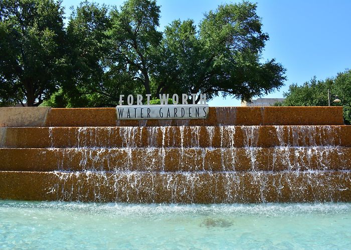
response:
[[[143,96],[136,96],[136,105],[133,95],[129,94],[124,100],[124,94],[119,95],[119,105],[116,106],[118,119],[201,119],[207,118],[209,105],[206,103],[206,94],[192,94],[192,103],[188,103],[188,94],[182,94],[182,103],[179,95],[172,95],[172,103],[168,103],[169,94],[160,94],[161,104],[150,104],[151,94],[146,94],[146,103]],[[198,98],[198,103],[196,100]],[[127,102],[127,105],[123,103]]]

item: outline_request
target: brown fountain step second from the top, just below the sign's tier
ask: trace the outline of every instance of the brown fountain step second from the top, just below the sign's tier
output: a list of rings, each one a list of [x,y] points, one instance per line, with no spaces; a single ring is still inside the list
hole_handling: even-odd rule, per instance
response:
[[[351,146],[351,126],[0,127],[0,147]]]

